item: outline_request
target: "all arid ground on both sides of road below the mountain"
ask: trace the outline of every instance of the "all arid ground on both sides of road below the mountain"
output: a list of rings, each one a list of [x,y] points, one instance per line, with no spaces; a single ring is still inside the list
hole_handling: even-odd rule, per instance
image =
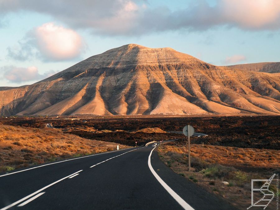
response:
[[[46,128],[46,124],[53,128]],[[188,172],[186,138],[190,124],[206,137],[191,137],[192,169]],[[239,209],[250,206],[250,179],[279,173],[278,116],[115,117],[0,119],[1,170],[13,170],[61,158],[150,141],[178,139],[158,147],[159,156],[176,173],[221,196]],[[202,145],[203,143],[203,145]],[[224,184],[222,181],[228,182]],[[273,182],[271,189],[276,190]],[[275,206],[275,200],[268,206]]]

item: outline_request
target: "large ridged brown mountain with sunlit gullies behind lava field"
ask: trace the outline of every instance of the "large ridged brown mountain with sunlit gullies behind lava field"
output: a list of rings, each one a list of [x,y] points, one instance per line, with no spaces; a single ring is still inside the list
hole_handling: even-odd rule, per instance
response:
[[[2,115],[280,114],[280,73],[217,67],[128,44],[29,86],[0,88]]]

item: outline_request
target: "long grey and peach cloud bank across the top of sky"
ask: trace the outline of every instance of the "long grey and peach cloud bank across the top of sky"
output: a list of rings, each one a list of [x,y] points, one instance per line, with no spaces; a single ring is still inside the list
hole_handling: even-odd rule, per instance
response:
[[[192,1],[182,9],[151,7],[141,0],[1,0],[0,13],[32,11],[50,15],[68,26],[104,35],[141,35],[166,30],[208,30],[216,26],[242,30],[280,29],[279,0]]]

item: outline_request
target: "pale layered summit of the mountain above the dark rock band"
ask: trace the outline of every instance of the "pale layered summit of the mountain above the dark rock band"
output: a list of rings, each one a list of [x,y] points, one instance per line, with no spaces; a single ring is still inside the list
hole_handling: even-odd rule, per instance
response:
[[[126,44],[86,60],[66,69],[66,72],[92,68],[123,68],[128,66],[159,66],[191,64],[202,62],[193,56],[180,53],[172,48],[148,48],[139,44]],[[204,63],[204,62],[203,62]]]

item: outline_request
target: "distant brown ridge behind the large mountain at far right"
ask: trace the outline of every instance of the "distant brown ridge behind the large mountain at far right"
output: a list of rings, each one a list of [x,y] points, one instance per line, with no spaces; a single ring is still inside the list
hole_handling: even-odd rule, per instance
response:
[[[247,63],[227,67],[254,72],[280,73],[280,62]]]

